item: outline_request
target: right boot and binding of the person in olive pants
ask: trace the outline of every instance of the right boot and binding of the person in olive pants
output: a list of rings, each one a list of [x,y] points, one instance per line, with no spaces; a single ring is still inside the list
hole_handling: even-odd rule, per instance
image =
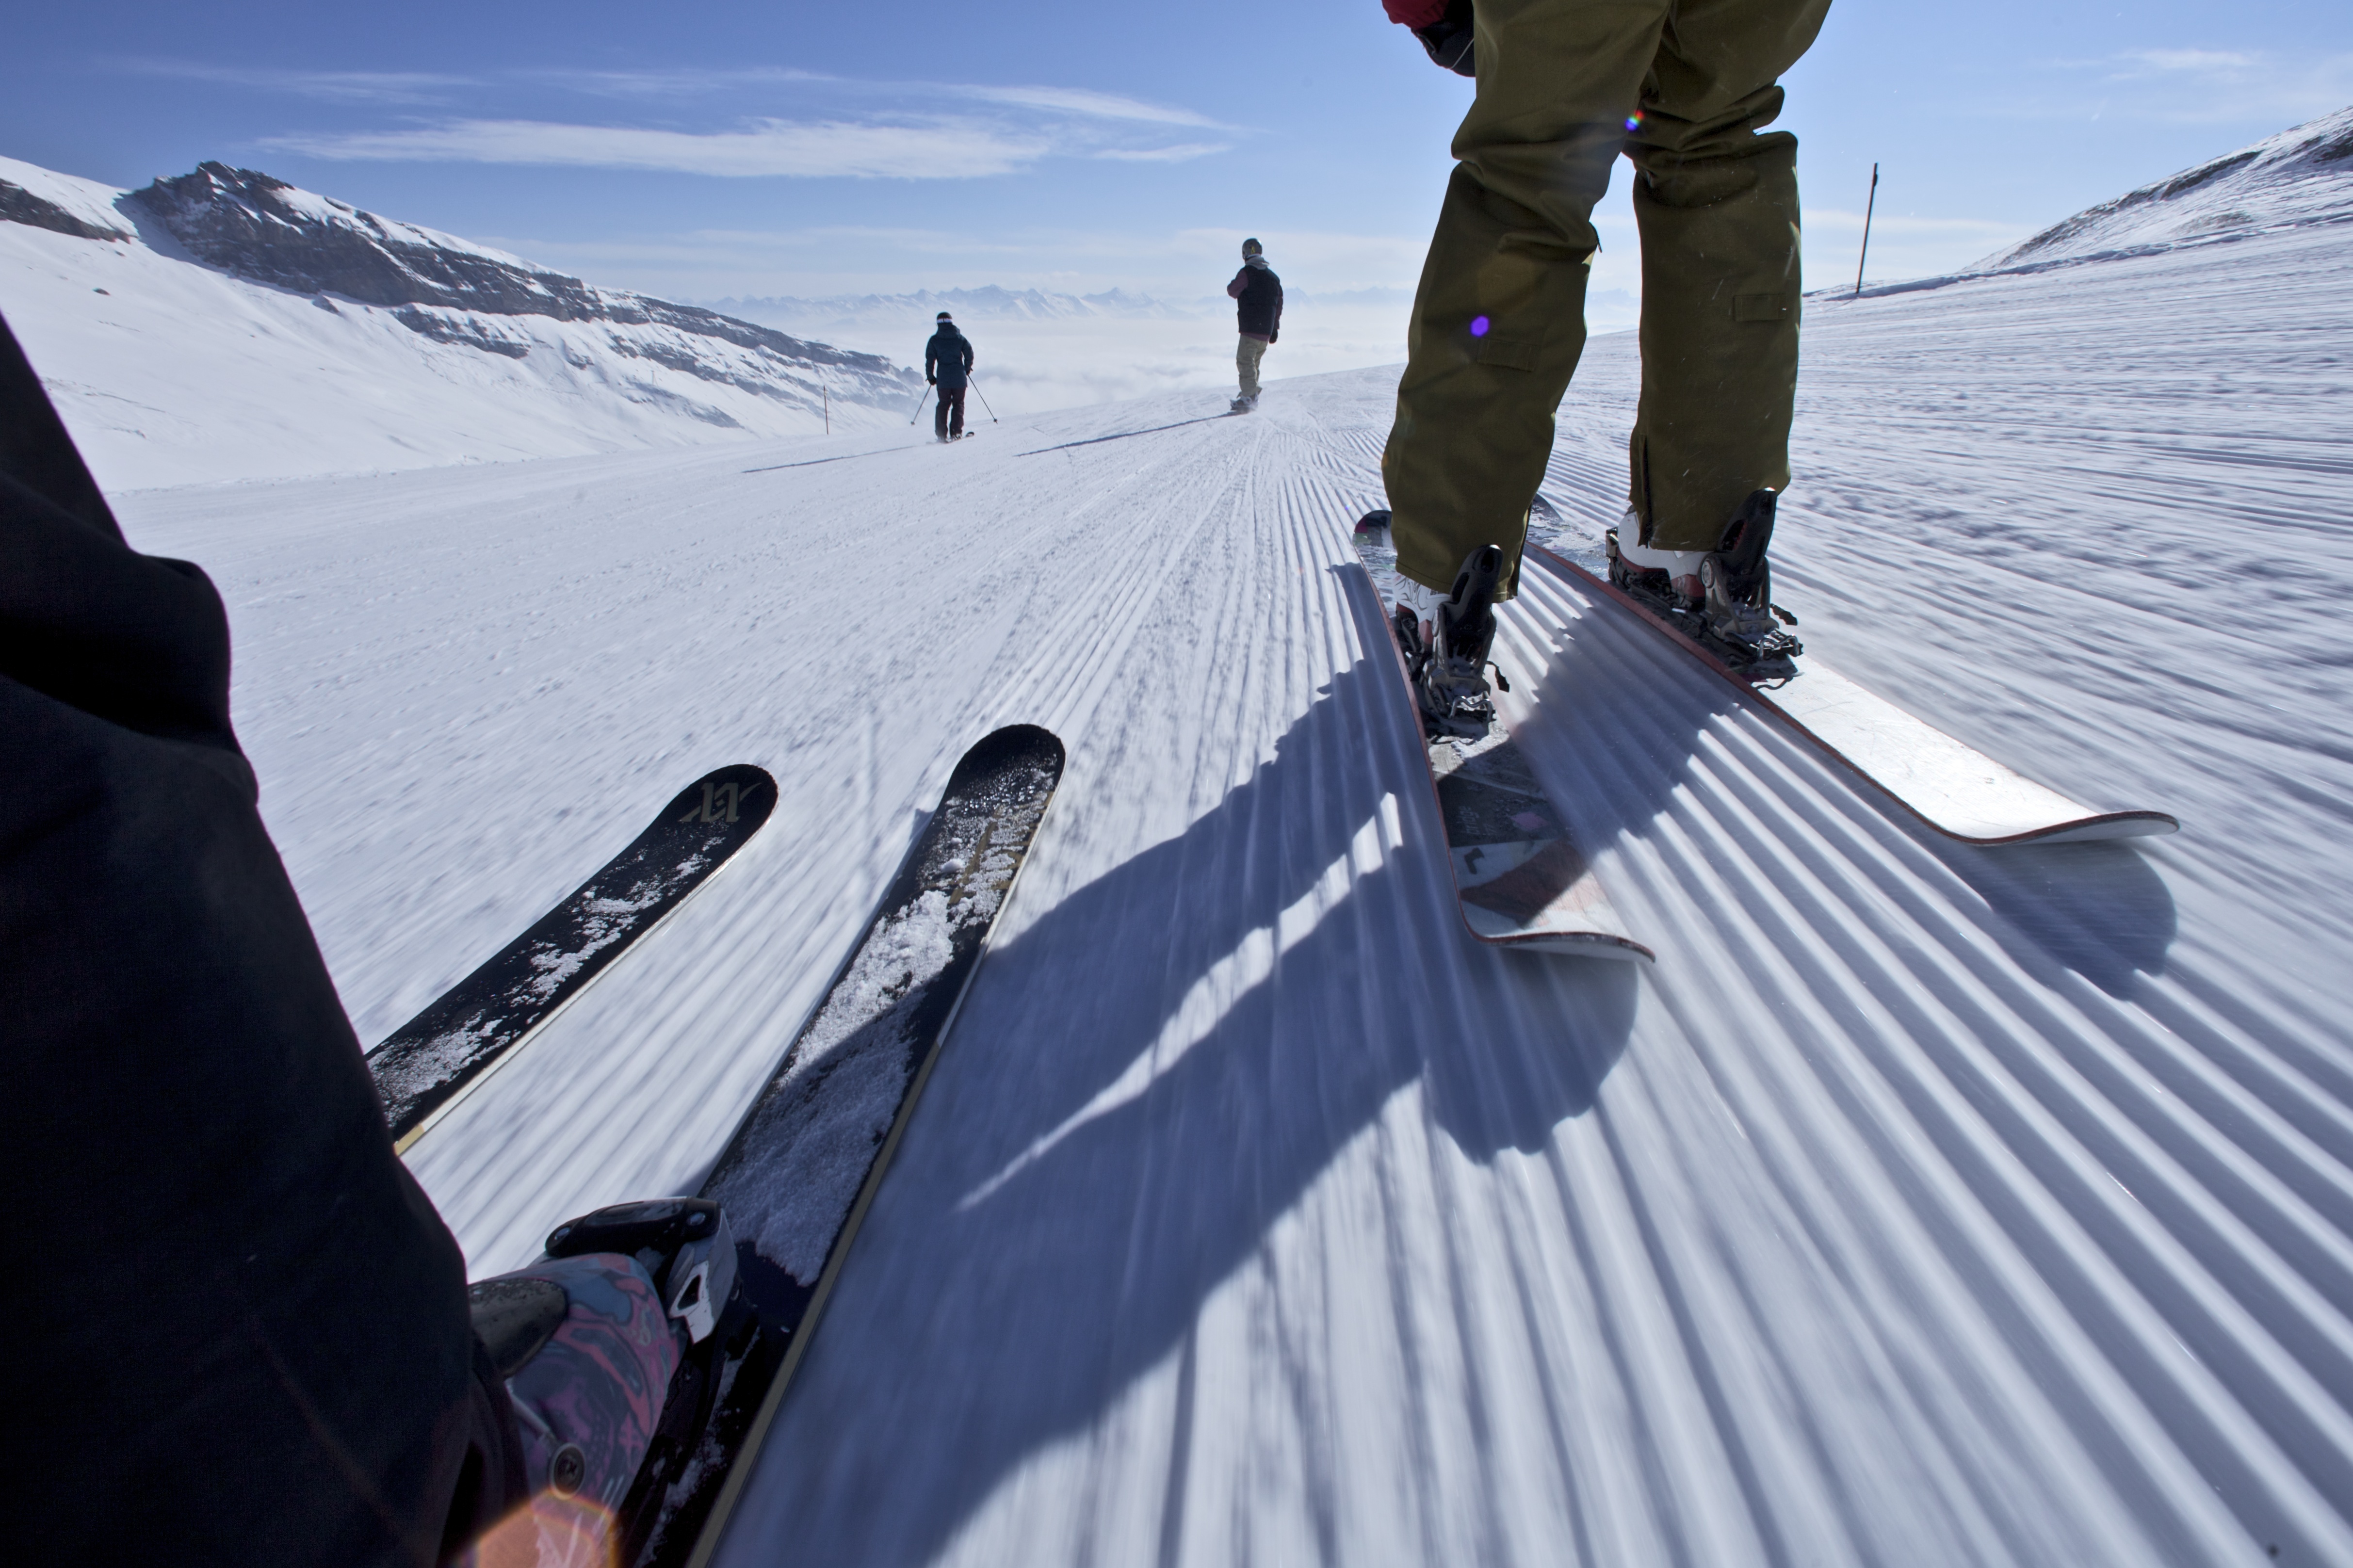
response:
[[[1713,551],[1664,551],[1628,534],[1635,516],[1609,530],[1609,582],[1649,605],[1666,624],[1718,655],[1744,680],[1788,680],[1805,645],[1781,631],[1798,617],[1772,603],[1772,546],[1777,497],[1755,490],[1725,525]]]

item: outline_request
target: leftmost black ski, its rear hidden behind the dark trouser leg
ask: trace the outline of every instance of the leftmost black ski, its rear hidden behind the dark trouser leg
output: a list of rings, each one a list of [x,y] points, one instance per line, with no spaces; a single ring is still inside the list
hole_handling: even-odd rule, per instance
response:
[[[529,1031],[727,864],[772,810],[776,782],[762,768],[706,772],[572,897],[386,1036],[367,1069],[393,1147],[405,1154],[424,1137]]]

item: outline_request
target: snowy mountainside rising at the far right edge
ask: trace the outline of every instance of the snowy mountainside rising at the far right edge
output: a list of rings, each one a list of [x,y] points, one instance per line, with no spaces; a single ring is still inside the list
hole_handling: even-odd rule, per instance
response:
[[[2353,221],[2353,108],[2087,207],[1972,273]]]

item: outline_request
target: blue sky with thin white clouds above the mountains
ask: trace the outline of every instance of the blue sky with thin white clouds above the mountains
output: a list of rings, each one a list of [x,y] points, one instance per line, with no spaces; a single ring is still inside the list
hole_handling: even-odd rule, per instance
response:
[[[268,170],[675,299],[1409,287],[1468,82],[1377,0],[16,7],[0,153]],[[1809,283],[1972,261],[2353,104],[2353,7],[1840,0],[1788,78]],[[1631,283],[1624,165],[1602,285]]]

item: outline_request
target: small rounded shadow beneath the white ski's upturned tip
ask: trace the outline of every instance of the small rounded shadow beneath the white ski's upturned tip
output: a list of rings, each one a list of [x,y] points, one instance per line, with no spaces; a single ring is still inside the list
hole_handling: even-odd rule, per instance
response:
[[[2002,916],[1988,930],[2028,972],[2059,963],[2118,1001],[2165,972],[2174,895],[2129,841],[1932,848]]]

